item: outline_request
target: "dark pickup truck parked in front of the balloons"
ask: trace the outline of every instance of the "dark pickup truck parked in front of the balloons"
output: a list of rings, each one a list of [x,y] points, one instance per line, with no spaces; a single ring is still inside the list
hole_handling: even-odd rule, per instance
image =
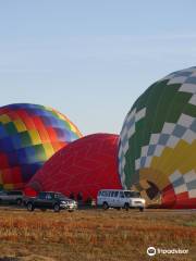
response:
[[[54,212],[59,212],[60,210],[69,210],[72,212],[77,209],[77,202],[75,200],[69,199],[63,194],[53,191],[44,191],[39,192],[35,198],[26,198],[24,204],[28,211],[34,211],[35,209],[42,211],[52,209]]]

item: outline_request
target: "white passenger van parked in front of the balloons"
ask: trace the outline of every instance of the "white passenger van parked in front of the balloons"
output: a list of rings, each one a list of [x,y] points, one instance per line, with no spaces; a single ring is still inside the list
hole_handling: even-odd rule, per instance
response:
[[[115,209],[145,209],[146,200],[140,198],[140,194],[133,190],[123,189],[101,189],[97,195],[97,206],[105,210],[108,208]]]

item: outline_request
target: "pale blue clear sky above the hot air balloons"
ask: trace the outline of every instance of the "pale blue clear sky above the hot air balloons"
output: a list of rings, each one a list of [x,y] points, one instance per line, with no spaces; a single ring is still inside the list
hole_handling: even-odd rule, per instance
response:
[[[196,65],[195,0],[1,0],[0,105],[58,109],[119,133],[135,99]]]

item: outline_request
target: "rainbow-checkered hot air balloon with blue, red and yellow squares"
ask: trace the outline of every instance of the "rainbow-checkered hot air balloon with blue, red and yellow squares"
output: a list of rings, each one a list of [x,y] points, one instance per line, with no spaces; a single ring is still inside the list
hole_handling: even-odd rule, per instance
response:
[[[59,149],[82,137],[58,111],[17,103],[0,108],[0,188],[23,188]]]

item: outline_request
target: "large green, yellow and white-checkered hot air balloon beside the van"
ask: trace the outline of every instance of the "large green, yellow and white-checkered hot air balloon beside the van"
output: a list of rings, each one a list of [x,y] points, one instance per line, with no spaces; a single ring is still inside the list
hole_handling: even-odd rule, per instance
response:
[[[136,100],[120,135],[119,174],[149,203],[196,208],[196,67],[168,75]]]

